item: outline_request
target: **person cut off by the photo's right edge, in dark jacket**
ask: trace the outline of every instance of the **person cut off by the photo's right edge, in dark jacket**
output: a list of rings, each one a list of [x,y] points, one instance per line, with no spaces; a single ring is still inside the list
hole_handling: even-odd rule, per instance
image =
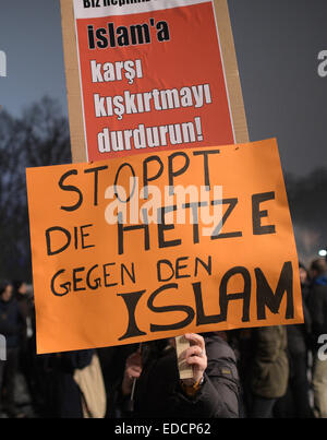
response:
[[[327,266],[323,259],[312,262],[308,309],[313,337],[313,393],[315,414],[327,418],[327,362],[319,356],[319,337],[327,337]]]

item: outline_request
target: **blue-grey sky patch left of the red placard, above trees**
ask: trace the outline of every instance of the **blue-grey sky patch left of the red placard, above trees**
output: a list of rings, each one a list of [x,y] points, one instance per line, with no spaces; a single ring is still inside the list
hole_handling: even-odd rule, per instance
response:
[[[66,112],[59,0],[0,0],[0,49],[8,76],[0,78],[0,104],[19,115],[45,94]]]

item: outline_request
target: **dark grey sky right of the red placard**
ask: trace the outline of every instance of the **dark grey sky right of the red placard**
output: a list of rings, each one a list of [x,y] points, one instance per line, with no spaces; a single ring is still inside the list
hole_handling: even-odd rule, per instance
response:
[[[252,141],[276,136],[283,169],[327,166],[326,0],[230,0]]]

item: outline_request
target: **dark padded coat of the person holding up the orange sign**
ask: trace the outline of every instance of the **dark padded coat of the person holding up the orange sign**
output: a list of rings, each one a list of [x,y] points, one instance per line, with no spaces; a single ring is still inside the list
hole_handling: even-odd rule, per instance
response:
[[[179,381],[175,349],[160,350],[143,368],[135,389],[136,417],[239,417],[239,376],[231,347],[214,333],[205,335],[208,367],[194,397]]]

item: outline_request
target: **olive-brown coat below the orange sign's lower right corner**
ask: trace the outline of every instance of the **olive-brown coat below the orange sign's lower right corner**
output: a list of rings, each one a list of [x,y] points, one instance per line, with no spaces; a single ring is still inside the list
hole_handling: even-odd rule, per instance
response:
[[[286,326],[253,329],[253,337],[251,391],[261,397],[281,397],[289,380]]]

